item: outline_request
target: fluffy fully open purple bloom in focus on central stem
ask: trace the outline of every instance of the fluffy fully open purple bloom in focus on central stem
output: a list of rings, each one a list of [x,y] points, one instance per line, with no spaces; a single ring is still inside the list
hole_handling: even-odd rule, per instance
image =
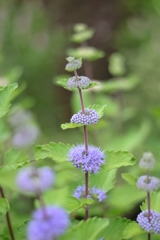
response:
[[[86,154],[84,144],[78,144],[72,147],[68,153],[68,161],[72,162],[74,167],[81,168],[83,172],[98,173],[102,164],[104,164],[105,154],[98,147],[88,146]]]

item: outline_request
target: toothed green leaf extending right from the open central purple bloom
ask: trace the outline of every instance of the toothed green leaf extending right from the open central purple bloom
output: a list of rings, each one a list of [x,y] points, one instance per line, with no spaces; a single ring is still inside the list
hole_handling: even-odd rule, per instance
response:
[[[122,166],[133,165],[136,159],[127,151],[105,151],[106,164],[102,166],[105,171],[110,171]]]

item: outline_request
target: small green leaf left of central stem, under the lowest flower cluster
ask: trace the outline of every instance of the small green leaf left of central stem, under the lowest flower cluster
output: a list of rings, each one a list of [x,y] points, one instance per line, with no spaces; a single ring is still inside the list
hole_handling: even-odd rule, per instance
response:
[[[78,209],[84,208],[87,205],[92,204],[94,201],[91,198],[88,199],[80,199],[78,200],[77,198],[73,197],[73,196],[69,196],[66,199],[66,204],[65,204],[65,209],[67,209],[67,211],[69,213],[74,212]]]

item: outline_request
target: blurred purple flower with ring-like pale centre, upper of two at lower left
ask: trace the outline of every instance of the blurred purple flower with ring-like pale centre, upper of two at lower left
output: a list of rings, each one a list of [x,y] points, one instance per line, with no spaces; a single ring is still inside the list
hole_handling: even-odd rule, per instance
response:
[[[49,189],[54,182],[54,173],[50,167],[22,168],[16,177],[17,187],[22,192],[39,193]]]

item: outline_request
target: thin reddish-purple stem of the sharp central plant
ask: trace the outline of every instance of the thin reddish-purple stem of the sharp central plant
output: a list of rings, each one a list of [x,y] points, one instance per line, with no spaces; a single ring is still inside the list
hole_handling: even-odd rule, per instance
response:
[[[77,71],[74,71],[74,74],[75,74],[76,80],[78,81]],[[83,102],[82,91],[81,91],[80,88],[78,88],[78,92],[79,92],[79,97],[80,97],[80,102],[81,102],[82,113],[84,114],[85,113],[85,111],[84,111],[84,102]],[[86,125],[83,127],[83,130],[84,130],[85,152],[86,152],[86,155],[88,155],[88,132],[87,132],[87,126]],[[85,173],[85,197],[86,198],[87,198],[88,192],[89,192],[88,182],[89,182],[89,177],[88,177],[88,172],[86,172]],[[88,217],[89,217],[89,208],[86,207],[85,208],[85,220],[87,220]]]

